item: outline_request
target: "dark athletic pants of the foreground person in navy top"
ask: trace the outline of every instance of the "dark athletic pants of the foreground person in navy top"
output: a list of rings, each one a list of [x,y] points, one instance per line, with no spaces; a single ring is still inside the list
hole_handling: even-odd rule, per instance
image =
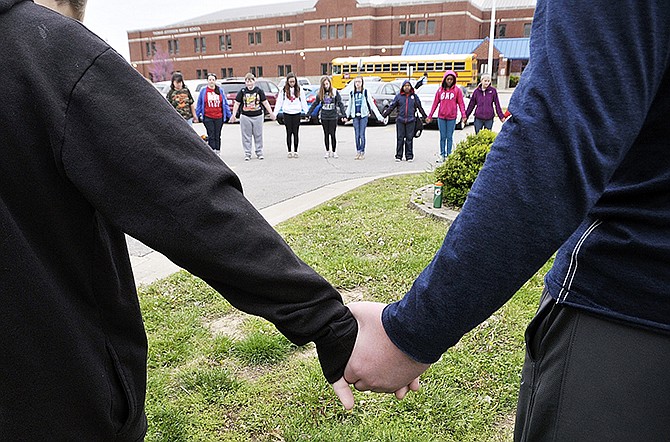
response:
[[[558,305],[545,290],[526,330],[514,440],[670,440],[670,333]]]

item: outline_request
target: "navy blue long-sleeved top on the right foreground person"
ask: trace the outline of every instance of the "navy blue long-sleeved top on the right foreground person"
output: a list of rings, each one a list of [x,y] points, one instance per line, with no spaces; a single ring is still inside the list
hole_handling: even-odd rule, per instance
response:
[[[670,331],[670,8],[539,0],[530,64],[442,247],[383,313],[435,362],[557,251],[556,302]]]

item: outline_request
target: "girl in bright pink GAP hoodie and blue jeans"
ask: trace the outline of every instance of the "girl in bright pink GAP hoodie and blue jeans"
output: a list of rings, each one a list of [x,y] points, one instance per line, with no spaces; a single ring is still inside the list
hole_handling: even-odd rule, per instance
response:
[[[442,78],[442,87],[435,93],[433,107],[426,119],[430,123],[435,109],[439,107],[437,113],[437,126],[440,128],[440,157],[437,162],[444,161],[447,155],[451,155],[451,148],[454,144],[454,129],[456,129],[456,118],[458,109],[461,111],[463,126],[465,126],[465,103],[463,102],[463,92],[456,84],[458,75],[454,71],[447,71]],[[445,152],[446,144],[446,152]]]

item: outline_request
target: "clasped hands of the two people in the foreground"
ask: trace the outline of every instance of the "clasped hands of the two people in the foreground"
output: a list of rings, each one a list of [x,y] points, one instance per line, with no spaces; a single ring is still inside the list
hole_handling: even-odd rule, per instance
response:
[[[395,392],[398,399],[417,391],[419,375],[430,365],[411,359],[388,338],[381,321],[386,304],[354,302],[347,307],[358,321],[356,344],[344,369],[347,382],[361,391]],[[338,397],[344,404],[344,396]]]

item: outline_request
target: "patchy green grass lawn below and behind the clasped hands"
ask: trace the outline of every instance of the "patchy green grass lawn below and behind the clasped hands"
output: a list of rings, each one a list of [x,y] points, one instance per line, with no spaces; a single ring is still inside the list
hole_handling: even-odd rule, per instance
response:
[[[428,174],[387,178],[277,230],[346,297],[401,297],[440,247],[443,222],[408,208]],[[140,290],[149,337],[147,441],[507,441],[523,332],[548,265],[467,334],[403,401],[356,392],[342,409],[312,345],[295,347],[180,272]]]

